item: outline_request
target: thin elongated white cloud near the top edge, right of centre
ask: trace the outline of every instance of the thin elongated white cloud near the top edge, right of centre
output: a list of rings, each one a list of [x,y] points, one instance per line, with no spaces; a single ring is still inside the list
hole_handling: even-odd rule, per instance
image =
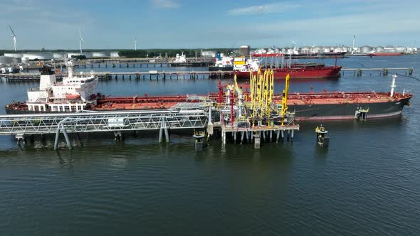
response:
[[[248,14],[261,14],[261,13],[276,13],[285,12],[293,9],[300,8],[299,4],[266,4],[259,6],[246,6],[238,9],[231,9],[228,11],[229,15],[248,15]]]

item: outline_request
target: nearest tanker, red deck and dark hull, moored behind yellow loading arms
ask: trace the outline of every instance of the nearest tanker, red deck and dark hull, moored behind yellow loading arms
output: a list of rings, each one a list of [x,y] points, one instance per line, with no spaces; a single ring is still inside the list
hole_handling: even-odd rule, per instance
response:
[[[48,71],[47,75],[41,74],[40,89],[29,90],[28,102],[14,102],[6,105],[8,114],[31,114],[31,113],[49,113],[49,112],[79,112],[83,110],[90,111],[115,111],[115,110],[147,110],[147,109],[169,109],[180,102],[201,102],[199,96],[175,95],[175,96],[135,96],[135,97],[104,97],[102,95],[90,95],[90,100],[83,100],[86,94],[78,96],[80,92],[91,90],[73,90],[73,87],[80,87],[80,83],[65,85],[68,90],[73,91],[72,97],[68,93],[60,97],[45,97],[48,92],[54,94],[54,86],[63,87],[53,82],[52,88],[46,85],[46,79],[53,81],[53,73]],[[249,74],[248,74],[249,76]],[[288,94],[288,111],[295,112],[295,119],[298,120],[323,120],[323,119],[357,119],[364,114],[369,118],[392,117],[401,114],[403,108],[409,105],[409,100],[413,95],[409,93],[394,92],[394,75],[391,92],[295,92]],[[71,79],[72,81],[75,80]],[[93,78],[80,78],[94,81]],[[83,83],[82,83],[83,84]],[[61,90],[60,90],[61,91]],[[29,92],[38,93],[29,95]],[[245,92],[246,100],[248,93]],[[201,96],[206,100],[214,102],[224,101],[223,86],[219,86],[219,93]],[[274,102],[281,104],[282,95],[274,95]],[[36,102],[30,102],[34,100]],[[59,102],[61,101],[61,102]],[[36,107],[35,107],[36,106]],[[38,107],[38,108],[37,108]]]

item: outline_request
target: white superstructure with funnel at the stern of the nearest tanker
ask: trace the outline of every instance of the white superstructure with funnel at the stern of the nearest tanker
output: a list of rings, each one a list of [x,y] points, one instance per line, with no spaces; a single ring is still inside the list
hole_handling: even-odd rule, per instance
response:
[[[73,62],[68,62],[68,77],[57,82],[50,68],[41,71],[39,88],[28,90],[28,110],[36,112],[78,112],[96,103],[98,78],[93,75],[73,75]]]

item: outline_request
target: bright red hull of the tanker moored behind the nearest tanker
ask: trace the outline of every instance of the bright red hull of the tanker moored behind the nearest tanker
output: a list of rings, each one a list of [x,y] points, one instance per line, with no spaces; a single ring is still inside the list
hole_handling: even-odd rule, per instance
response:
[[[275,79],[284,79],[286,75],[290,75],[290,79],[307,79],[307,78],[337,78],[340,77],[341,66],[330,66],[324,68],[279,68],[274,70]],[[263,73],[264,70],[261,70]],[[254,75],[257,72],[254,71]],[[249,72],[235,71],[238,79],[249,79]]]

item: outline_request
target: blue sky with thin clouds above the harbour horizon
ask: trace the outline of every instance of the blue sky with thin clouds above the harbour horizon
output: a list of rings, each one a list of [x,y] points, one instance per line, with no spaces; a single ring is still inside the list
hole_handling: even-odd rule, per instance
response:
[[[1,0],[0,49],[420,45],[419,0]],[[2,25],[2,26],[1,26]]]

